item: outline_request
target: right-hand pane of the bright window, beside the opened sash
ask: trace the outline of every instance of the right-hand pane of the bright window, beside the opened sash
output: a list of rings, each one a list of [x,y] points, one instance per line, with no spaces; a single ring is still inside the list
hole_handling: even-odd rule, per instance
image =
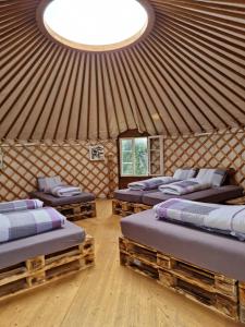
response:
[[[135,174],[148,174],[147,137],[135,138]]]

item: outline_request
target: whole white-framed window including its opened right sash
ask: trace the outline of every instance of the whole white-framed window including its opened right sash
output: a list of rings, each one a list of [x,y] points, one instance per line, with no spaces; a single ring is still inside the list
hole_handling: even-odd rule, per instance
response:
[[[120,138],[120,168],[121,177],[162,175],[162,136]]]

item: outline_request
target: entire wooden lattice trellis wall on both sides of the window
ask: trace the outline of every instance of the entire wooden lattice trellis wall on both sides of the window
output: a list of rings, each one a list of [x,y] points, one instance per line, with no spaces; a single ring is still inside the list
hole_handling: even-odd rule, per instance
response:
[[[95,143],[2,143],[0,199],[24,198],[36,190],[37,175],[54,174],[98,197],[110,196],[118,187],[117,142],[99,142],[105,146],[105,161],[89,160],[89,144]],[[236,182],[245,187],[245,132],[166,137],[164,173],[170,175],[180,167],[234,168]]]

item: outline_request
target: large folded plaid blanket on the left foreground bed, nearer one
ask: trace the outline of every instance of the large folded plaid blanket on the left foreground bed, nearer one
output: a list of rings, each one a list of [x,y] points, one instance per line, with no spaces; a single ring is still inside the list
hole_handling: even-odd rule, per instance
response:
[[[65,217],[46,207],[35,210],[0,214],[0,242],[27,238],[64,225]]]

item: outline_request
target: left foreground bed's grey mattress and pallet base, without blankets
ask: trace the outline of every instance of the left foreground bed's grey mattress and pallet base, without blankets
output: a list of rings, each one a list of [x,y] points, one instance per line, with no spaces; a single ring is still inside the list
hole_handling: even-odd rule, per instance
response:
[[[70,221],[64,227],[0,244],[0,300],[94,265],[94,239]]]

